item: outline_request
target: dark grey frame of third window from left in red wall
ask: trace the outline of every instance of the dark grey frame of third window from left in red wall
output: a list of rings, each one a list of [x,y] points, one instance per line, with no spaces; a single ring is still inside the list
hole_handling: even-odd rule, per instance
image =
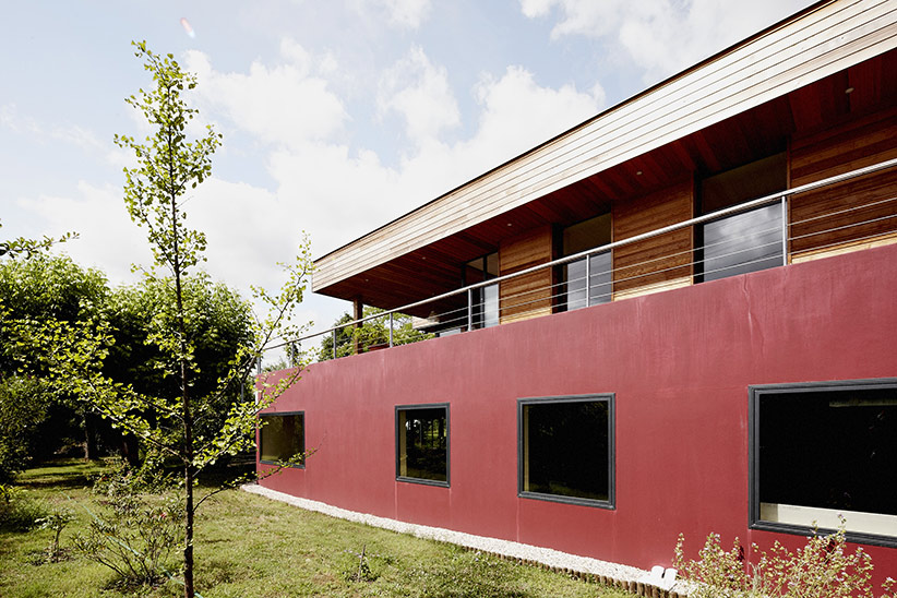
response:
[[[608,500],[584,499],[578,497],[565,497],[562,494],[547,494],[543,492],[533,492],[524,490],[524,407],[527,405],[546,405],[562,403],[593,403],[596,400],[608,404]],[[596,393],[587,395],[560,395],[548,397],[528,397],[517,399],[517,497],[521,499],[534,499],[562,504],[575,504],[579,506],[594,506],[609,511],[617,510],[617,417],[615,417],[617,393]]]

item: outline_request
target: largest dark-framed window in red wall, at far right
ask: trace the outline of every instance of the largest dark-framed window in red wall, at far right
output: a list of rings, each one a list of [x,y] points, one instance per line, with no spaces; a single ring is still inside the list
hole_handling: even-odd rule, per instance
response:
[[[751,386],[752,528],[897,546],[897,379]]]

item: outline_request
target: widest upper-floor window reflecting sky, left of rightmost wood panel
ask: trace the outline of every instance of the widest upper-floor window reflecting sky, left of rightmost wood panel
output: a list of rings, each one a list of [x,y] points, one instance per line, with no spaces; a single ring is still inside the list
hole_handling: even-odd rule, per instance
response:
[[[705,178],[699,186],[698,212],[710,214],[786,187],[786,155],[776,154]],[[699,225],[698,279],[716,280],[782,265],[781,212],[780,204],[770,204]]]

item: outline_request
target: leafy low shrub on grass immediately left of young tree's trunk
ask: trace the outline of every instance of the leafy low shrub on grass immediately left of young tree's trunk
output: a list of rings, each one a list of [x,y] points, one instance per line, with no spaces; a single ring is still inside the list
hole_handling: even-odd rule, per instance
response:
[[[86,559],[115,571],[123,585],[157,585],[183,540],[183,516],[175,497],[122,493],[72,542]]]

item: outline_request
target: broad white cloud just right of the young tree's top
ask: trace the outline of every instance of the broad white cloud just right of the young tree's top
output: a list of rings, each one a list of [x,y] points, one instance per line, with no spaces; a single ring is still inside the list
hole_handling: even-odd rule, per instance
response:
[[[327,81],[311,72],[315,59],[289,39],[280,50],[287,63],[266,67],[255,61],[248,74],[215,71],[208,57],[195,50],[184,62],[200,80],[200,101],[263,142],[294,145],[339,132],[346,110]],[[333,57],[322,63],[334,70]]]

